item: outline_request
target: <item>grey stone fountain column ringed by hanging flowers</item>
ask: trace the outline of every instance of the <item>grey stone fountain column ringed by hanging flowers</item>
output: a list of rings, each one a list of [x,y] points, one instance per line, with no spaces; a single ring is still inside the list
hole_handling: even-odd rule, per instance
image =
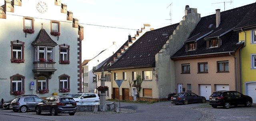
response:
[[[102,68],[101,77],[100,77],[100,86],[104,87],[105,82],[106,82],[106,78],[104,78],[104,69]],[[106,91],[100,91],[99,111],[107,111]]]

